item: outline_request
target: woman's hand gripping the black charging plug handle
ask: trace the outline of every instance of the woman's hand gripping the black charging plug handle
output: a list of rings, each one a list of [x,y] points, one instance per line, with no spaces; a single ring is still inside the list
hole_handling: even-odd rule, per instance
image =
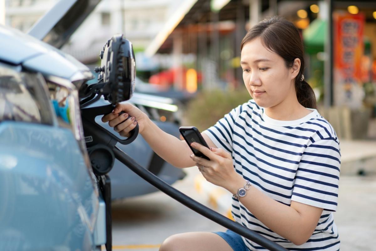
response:
[[[122,111],[124,113],[119,115]],[[139,133],[143,132],[148,119],[149,117],[136,106],[130,103],[118,103],[112,113],[102,117],[102,122],[108,122],[108,125],[113,127],[120,136],[129,137],[129,132],[136,127],[137,123]]]

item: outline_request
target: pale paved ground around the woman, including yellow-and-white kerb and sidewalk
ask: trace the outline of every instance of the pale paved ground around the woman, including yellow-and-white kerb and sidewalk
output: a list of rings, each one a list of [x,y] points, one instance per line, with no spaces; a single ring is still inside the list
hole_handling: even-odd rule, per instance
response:
[[[341,176],[334,218],[341,251],[376,250],[375,122],[374,129],[370,130],[373,140],[340,141]],[[226,215],[227,191],[205,183],[197,167],[185,170],[186,178],[174,187]],[[165,238],[175,233],[224,230],[162,192],[117,201],[112,208],[114,250],[156,251]]]

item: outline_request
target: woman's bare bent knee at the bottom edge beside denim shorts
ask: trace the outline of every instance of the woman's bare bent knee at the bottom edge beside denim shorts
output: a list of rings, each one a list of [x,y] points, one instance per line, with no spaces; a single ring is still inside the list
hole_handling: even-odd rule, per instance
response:
[[[164,240],[159,251],[233,251],[218,234],[189,232],[174,234]]]

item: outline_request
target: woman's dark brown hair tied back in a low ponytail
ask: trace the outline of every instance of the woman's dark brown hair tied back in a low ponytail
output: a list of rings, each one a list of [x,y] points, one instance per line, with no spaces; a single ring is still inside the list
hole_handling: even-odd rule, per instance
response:
[[[304,52],[302,39],[294,24],[279,16],[265,18],[247,32],[241,41],[240,50],[245,43],[258,37],[265,48],[284,59],[286,67],[291,68],[294,60],[300,59],[300,70],[295,78],[296,97],[304,107],[316,109],[315,93],[306,81],[300,81],[304,70]]]

